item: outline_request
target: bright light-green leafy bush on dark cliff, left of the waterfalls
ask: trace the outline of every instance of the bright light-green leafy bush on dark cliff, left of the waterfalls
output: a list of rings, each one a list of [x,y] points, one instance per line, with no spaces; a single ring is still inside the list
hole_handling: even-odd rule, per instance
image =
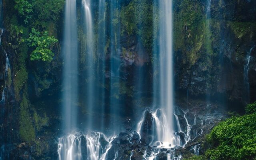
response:
[[[35,28],[32,28],[27,41],[30,47],[36,47],[30,56],[30,60],[51,61],[53,59],[54,53],[51,49],[58,40],[54,36],[48,36],[47,31],[44,31],[41,35]]]

